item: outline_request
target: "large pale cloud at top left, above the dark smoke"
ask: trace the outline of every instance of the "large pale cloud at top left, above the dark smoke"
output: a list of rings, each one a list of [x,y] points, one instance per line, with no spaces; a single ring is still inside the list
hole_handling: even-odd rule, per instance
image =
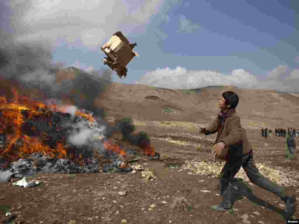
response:
[[[17,0],[10,1],[16,6]],[[54,45],[81,43],[90,48],[102,45],[110,36],[139,32],[160,13],[164,0],[127,1],[52,0],[28,1],[15,38],[19,41],[48,41]],[[166,17],[167,19],[167,17]]]

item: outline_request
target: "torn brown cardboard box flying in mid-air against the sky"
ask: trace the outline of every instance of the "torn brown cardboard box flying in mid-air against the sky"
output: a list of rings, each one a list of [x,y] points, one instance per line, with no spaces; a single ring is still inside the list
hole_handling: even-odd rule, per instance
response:
[[[101,46],[101,50],[107,55],[103,63],[116,71],[120,78],[126,77],[128,71],[126,65],[134,56],[139,56],[133,51],[135,46],[137,44],[131,44],[120,31],[114,33],[108,42]]]

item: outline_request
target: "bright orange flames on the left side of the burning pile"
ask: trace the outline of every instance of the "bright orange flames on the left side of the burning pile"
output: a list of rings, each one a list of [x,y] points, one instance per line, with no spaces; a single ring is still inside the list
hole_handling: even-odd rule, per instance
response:
[[[0,151],[0,154],[7,156],[11,162],[19,158],[24,158],[25,155],[33,152],[42,152],[43,154],[51,155],[51,157],[57,156],[58,158],[65,158],[67,156],[67,150],[63,142],[57,143],[54,148],[50,148],[49,145],[44,145],[39,138],[30,137],[21,133],[21,126],[25,119],[22,115],[22,111],[27,111],[26,118],[30,119],[33,116],[47,116],[40,111],[40,108],[46,107],[54,111],[64,112],[65,108],[71,105],[65,104],[58,106],[52,104],[46,106],[40,101],[29,99],[27,96],[19,96],[16,88],[12,88],[11,93],[13,93],[13,99],[9,101],[11,103],[7,103],[5,96],[0,96],[0,133],[4,133],[9,141],[7,148],[4,151]],[[90,113],[87,114],[77,110],[75,114],[85,117],[90,122],[94,121]],[[48,122],[48,125],[52,126],[51,121]],[[17,142],[18,139],[19,141]],[[82,163],[82,155],[80,155],[77,160]]]

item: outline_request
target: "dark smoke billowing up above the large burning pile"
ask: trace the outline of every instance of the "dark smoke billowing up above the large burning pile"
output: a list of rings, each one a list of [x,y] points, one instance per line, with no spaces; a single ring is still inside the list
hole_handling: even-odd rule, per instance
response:
[[[62,81],[57,82],[57,72],[65,65],[53,62],[54,46],[49,44],[50,41],[18,40],[25,32],[22,16],[31,7],[30,1],[1,1],[0,7],[0,95],[12,97],[11,88],[17,88],[19,95],[26,95],[30,89],[35,89],[37,93],[32,94],[35,100],[68,99],[78,108],[85,108],[97,116],[103,115],[103,108],[99,108],[95,100],[103,94],[106,84],[111,82],[112,71],[99,70],[89,74],[78,69],[74,70],[74,79],[62,78]]]

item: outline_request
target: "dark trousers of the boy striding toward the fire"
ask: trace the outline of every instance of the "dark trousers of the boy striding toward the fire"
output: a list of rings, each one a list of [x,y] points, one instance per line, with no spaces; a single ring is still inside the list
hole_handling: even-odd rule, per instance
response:
[[[230,151],[233,152],[233,150],[229,149],[228,154],[230,154]],[[273,192],[282,200],[286,200],[285,188],[271,182],[269,179],[260,174],[253,159],[253,152],[251,151],[250,153],[241,156],[229,156],[229,161],[226,162],[222,168],[219,175],[219,187],[220,195],[223,197],[221,202],[223,208],[231,208],[231,200],[233,199],[231,182],[241,166],[245,170],[247,177],[251,180],[251,182],[260,188]]]

